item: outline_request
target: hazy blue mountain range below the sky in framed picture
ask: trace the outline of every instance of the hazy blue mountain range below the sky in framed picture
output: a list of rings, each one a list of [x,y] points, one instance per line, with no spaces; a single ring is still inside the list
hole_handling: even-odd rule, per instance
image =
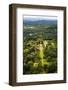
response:
[[[45,25],[56,25],[57,24],[57,20],[24,20],[23,22],[24,24],[45,24]]]

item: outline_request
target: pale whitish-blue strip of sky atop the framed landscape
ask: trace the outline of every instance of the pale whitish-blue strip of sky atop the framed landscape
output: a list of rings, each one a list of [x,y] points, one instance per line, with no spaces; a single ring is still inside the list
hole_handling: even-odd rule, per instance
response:
[[[57,20],[56,16],[23,16],[24,20],[31,20],[31,21],[37,21],[37,20]]]

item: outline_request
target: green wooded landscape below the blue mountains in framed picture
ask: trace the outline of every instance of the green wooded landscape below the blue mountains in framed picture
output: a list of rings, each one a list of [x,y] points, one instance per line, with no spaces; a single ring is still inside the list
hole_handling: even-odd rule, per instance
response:
[[[56,73],[57,25],[23,24],[23,74]]]

